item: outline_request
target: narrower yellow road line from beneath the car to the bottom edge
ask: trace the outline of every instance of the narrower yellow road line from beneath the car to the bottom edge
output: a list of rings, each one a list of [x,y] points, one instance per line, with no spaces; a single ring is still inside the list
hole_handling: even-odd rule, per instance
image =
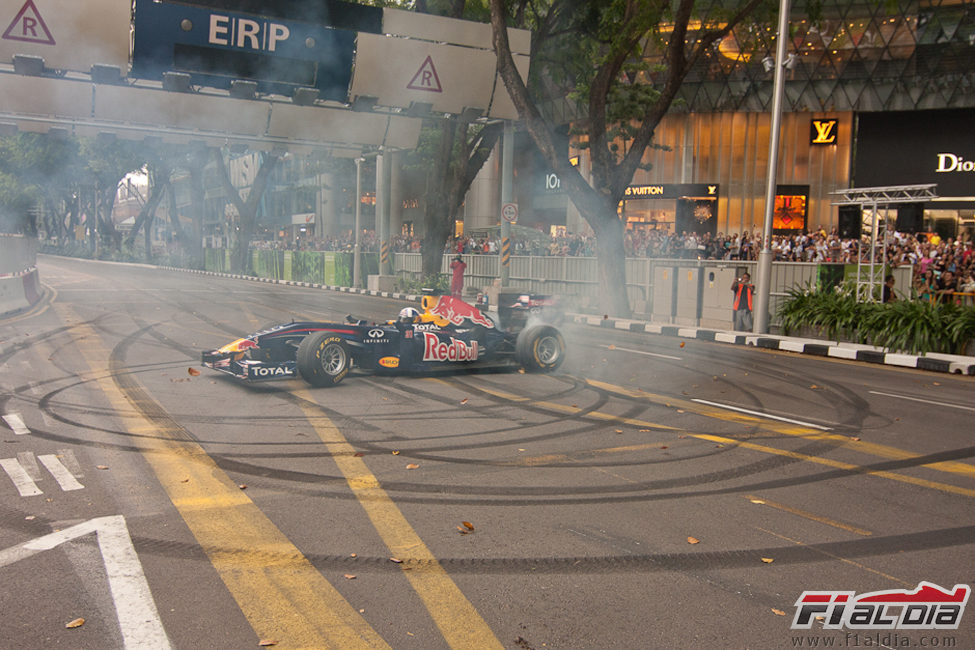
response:
[[[452,648],[502,648],[490,626],[380,486],[379,479],[369,471],[361,458],[355,456],[355,448],[342,432],[321,410],[311,406],[314,400],[308,391],[300,390],[295,394],[302,398],[301,408],[308,421],[328,447],[390,552],[401,560],[419,561],[418,567],[405,571],[404,575],[440,628],[447,644]]]

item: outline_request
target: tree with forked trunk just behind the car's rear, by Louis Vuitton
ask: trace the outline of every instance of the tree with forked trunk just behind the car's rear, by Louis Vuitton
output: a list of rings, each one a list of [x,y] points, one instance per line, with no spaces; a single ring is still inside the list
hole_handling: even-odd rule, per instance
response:
[[[748,0],[726,11],[715,0],[490,0],[494,48],[505,88],[532,140],[596,236],[605,313],[631,314],[624,227],[617,206],[657,125],[702,56],[768,4],[769,0]],[[515,67],[505,29],[509,22],[534,30],[535,92],[529,92]],[[662,54],[659,68],[647,62],[648,49]],[[539,69],[545,79],[538,77]],[[538,88],[543,83],[556,85],[579,104],[583,117],[575,133],[590,151],[591,181],[569,163],[559,146],[560,125],[539,109]]]

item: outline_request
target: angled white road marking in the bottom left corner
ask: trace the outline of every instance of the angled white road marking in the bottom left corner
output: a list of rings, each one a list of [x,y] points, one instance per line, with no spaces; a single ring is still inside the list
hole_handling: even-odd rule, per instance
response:
[[[98,548],[105,563],[108,586],[115,601],[125,647],[138,650],[171,648],[139,556],[132,545],[125,518],[121,515],[90,519],[25,544],[0,550],[0,567],[91,533],[98,535]]]

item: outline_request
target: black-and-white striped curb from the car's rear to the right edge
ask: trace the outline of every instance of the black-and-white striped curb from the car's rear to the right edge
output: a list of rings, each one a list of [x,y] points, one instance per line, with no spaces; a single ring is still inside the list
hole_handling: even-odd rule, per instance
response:
[[[880,363],[887,366],[901,368],[918,368],[934,372],[950,372],[961,375],[975,375],[975,357],[957,354],[940,354],[931,352],[925,355],[899,354],[886,352],[882,348],[855,343],[832,343],[814,339],[800,339],[773,334],[745,334],[727,330],[712,330],[700,327],[685,327],[681,325],[660,325],[645,321],[604,318],[588,314],[570,314],[576,323],[623,330],[627,332],[643,332],[662,336],[676,336],[700,341],[716,343],[730,343],[733,345],[751,345],[768,350],[783,350],[811,354],[818,357],[833,357],[835,359],[849,359],[852,361],[866,361]]]

